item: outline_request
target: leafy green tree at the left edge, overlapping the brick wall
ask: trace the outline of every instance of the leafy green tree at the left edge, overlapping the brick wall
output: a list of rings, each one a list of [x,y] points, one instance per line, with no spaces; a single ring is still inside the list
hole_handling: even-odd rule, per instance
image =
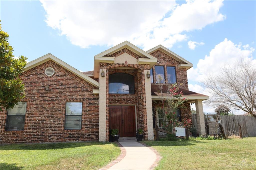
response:
[[[1,21],[1,20],[0,20]],[[10,46],[9,34],[2,30],[0,24],[0,103],[6,110],[13,108],[20,100],[25,97],[25,87],[22,80],[19,79],[19,74],[26,67],[27,57],[19,56],[15,58],[13,55],[13,47]]]

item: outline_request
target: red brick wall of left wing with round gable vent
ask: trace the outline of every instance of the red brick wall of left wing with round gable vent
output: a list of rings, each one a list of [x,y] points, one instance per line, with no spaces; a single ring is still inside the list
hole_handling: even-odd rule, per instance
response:
[[[53,76],[45,75],[47,67],[55,69]],[[20,78],[26,87],[24,130],[5,131],[7,113],[1,111],[1,143],[98,140],[99,95],[92,94],[96,87],[52,61],[23,72]],[[66,102],[72,101],[82,102],[82,129],[64,130]]]

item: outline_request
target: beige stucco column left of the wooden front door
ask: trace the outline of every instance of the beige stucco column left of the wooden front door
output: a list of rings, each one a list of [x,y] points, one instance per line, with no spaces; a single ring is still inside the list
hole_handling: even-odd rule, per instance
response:
[[[100,69],[100,74],[102,70],[105,72],[106,69]],[[106,141],[106,76],[99,77],[100,83],[100,102],[99,102],[99,141]]]

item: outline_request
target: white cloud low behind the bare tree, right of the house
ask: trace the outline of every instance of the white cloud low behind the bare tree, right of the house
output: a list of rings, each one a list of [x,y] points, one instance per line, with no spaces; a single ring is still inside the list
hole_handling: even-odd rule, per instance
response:
[[[217,44],[204,59],[200,59],[197,63],[197,68],[190,68],[187,71],[188,80],[198,81],[204,80],[207,74],[218,74],[219,70],[227,64],[232,64],[241,57],[246,60],[251,60],[256,64],[256,59],[253,58],[254,48],[248,44],[234,44],[232,41],[225,38],[224,41]],[[207,89],[204,89],[198,84],[189,84],[189,90],[205,95],[210,95]],[[204,112],[214,112],[214,108],[204,104]],[[243,111],[234,111],[234,114],[241,114]]]

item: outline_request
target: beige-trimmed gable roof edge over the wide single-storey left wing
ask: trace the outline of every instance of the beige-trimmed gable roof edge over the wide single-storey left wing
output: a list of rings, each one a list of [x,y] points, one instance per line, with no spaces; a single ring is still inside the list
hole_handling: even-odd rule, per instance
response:
[[[49,60],[52,60],[53,62],[59,64],[60,66],[66,68],[67,70],[71,71],[72,73],[74,73],[75,75],[81,77],[82,79],[86,80],[87,82],[93,84],[95,87],[99,87],[100,84],[99,82],[93,80],[92,78],[90,78],[89,76],[83,74],[81,71],[75,69],[74,67],[68,65],[67,63],[63,62],[62,60],[60,60],[59,58],[55,57],[54,55],[52,55],[51,53],[48,53],[42,57],[39,57],[29,63],[27,63],[27,66],[25,68],[25,70],[28,70],[30,68],[36,67],[42,63],[45,63]]]

